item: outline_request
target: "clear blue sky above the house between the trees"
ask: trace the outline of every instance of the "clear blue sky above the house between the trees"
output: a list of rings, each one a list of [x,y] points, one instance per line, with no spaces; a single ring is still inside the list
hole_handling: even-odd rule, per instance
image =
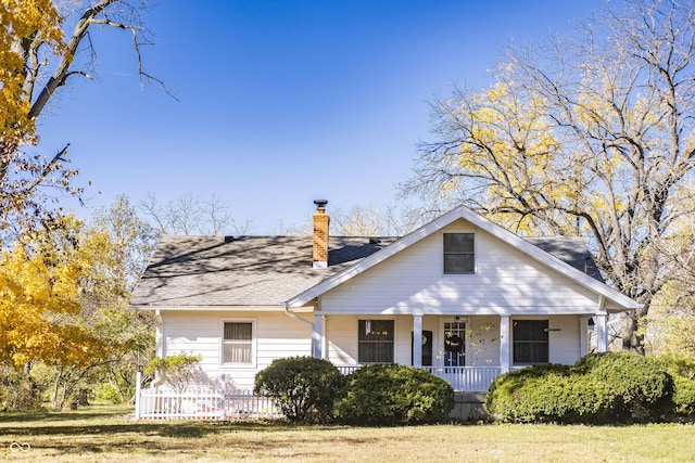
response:
[[[428,102],[452,83],[483,89],[509,41],[568,31],[607,0],[160,0],[143,20],[140,88],[128,33],[92,39],[96,79],[72,80],[40,121],[40,153],[71,143],[88,208],[219,196],[264,234],[313,200],[394,204]]]

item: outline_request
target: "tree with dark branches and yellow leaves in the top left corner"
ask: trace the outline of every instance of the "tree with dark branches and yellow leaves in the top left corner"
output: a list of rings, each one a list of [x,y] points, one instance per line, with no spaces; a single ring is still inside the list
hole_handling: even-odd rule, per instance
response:
[[[77,52],[91,49],[85,39],[93,27],[129,31],[141,79],[153,80],[140,60],[143,7],[143,0],[0,0],[0,231],[53,218],[41,187],[80,193],[71,182],[77,170],[66,166],[67,145],[45,157],[27,150],[38,142],[36,123],[49,101],[72,78],[90,78],[92,63]]]

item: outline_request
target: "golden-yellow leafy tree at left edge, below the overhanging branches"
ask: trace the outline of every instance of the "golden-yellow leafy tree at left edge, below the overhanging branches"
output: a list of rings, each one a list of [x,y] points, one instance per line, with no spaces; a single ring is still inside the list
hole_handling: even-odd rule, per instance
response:
[[[62,226],[0,254],[1,365],[84,369],[117,347],[85,325],[79,304],[80,282],[92,266],[90,249],[108,246],[108,236],[84,240],[70,218]]]

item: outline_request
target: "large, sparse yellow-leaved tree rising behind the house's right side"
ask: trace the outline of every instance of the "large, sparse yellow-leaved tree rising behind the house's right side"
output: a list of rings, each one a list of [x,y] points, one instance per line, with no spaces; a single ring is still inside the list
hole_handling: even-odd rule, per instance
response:
[[[692,271],[665,249],[695,213],[695,4],[611,8],[572,37],[510,48],[489,90],[435,102],[402,191],[433,213],[465,203],[522,234],[585,236],[609,284],[644,304],[622,331],[643,351],[639,321]]]

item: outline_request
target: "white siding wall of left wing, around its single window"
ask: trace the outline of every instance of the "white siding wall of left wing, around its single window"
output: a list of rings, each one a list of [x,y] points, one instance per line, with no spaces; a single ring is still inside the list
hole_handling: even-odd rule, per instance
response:
[[[164,322],[165,356],[187,352],[200,355],[201,370],[215,382],[225,373],[227,382],[241,388],[253,386],[255,374],[273,360],[311,355],[311,327],[283,312],[161,312]],[[222,326],[225,321],[252,321],[255,335],[255,365],[223,365]]]

